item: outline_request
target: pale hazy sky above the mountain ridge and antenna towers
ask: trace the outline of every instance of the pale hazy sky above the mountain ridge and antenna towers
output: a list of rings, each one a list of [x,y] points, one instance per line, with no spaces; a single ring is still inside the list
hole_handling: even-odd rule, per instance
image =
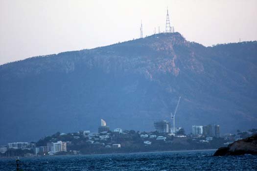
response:
[[[0,64],[165,29],[206,46],[257,40],[257,0],[0,0]]]

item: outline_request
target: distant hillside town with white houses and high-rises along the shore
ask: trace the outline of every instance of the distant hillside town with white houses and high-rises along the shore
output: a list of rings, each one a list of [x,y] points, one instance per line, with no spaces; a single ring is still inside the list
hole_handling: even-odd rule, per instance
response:
[[[192,132],[186,134],[184,128],[174,129],[165,120],[154,122],[153,125],[155,131],[151,132],[123,131],[121,128],[111,131],[101,119],[98,132],[57,132],[38,142],[8,143],[7,146],[0,146],[0,157],[217,149],[257,132],[257,129],[237,130],[237,134],[220,136],[219,125],[193,125]]]

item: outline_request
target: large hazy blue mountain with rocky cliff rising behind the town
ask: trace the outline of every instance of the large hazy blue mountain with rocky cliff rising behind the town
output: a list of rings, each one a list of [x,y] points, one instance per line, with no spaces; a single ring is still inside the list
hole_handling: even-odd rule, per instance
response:
[[[0,144],[57,131],[257,127],[257,42],[205,47],[178,32],[0,65]]]

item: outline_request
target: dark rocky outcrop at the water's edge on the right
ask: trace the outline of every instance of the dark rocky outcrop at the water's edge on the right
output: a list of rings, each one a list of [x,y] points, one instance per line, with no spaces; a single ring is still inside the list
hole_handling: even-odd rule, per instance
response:
[[[213,155],[224,156],[243,154],[257,154],[257,134],[246,139],[235,141],[228,147],[221,147]]]

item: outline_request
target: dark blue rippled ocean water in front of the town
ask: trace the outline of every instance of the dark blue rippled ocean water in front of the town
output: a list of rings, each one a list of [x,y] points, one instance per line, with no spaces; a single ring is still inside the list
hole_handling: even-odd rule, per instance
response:
[[[257,155],[211,156],[214,150],[20,158],[23,171],[257,171]],[[16,171],[0,158],[0,171]]]

